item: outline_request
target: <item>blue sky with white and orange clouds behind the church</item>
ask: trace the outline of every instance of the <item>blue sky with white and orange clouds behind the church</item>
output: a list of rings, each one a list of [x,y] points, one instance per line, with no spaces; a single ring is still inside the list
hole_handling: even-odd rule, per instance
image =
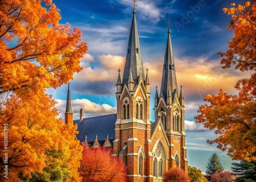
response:
[[[82,41],[88,43],[88,53],[80,60],[83,70],[70,82],[72,109],[75,118],[83,108],[85,117],[116,112],[116,80],[118,68],[123,70],[127,41],[132,21],[132,0],[53,0],[62,19],[71,28],[78,27]],[[151,83],[151,120],[154,120],[155,87],[160,87],[162,64],[167,40],[166,21],[171,20],[171,38],[178,85],[185,97],[185,126],[188,165],[205,171],[208,159],[216,152],[224,170],[230,171],[231,159],[206,143],[215,139],[214,131],[195,123],[199,106],[206,94],[218,94],[223,89],[236,94],[236,82],[248,77],[230,68],[221,69],[218,52],[228,49],[233,32],[227,30],[231,16],[222,8],[245,1],[167,1],[138,0],[136,19],[144,69],[148,68]],[[122,74],[122,71],[121,71]],[[58,101],[60,117],[65,112],[67,85],[48,89]]]

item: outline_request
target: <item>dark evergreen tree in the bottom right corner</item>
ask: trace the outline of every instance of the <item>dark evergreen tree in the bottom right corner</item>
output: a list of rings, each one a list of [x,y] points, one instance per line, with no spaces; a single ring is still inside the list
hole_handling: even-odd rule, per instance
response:
[[[256,181],[256,161],[241,161],[240,163],[232,163],[233,167],[231,167],[234,173],[240,174],[242,176],[236,179],[236,182],[252,182]]]

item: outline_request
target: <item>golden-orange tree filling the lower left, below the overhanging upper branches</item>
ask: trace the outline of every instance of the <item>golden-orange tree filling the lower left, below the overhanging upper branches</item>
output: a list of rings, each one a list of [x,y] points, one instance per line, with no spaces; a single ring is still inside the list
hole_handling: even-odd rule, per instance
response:
[[[76,126],[63,125],[57,119],[54,108],[56,101],[49,95],[37,95],[20,99],[12,94],[6,102],[4,115],[0,115],[0,147],[4,148],[4,123],[8,124],[8,179],[20,181],[18,174],[31,177],[34,172],[41,172],[50,160],[47,150],[61,150],[65,158],[62,163],[68,164],[72,180],[80,181],[79,161],[82,147],[74,140]],[[4,167],[4,151],[1,150],[1,168]],[[0,181],[3,181],[1,171]]]

